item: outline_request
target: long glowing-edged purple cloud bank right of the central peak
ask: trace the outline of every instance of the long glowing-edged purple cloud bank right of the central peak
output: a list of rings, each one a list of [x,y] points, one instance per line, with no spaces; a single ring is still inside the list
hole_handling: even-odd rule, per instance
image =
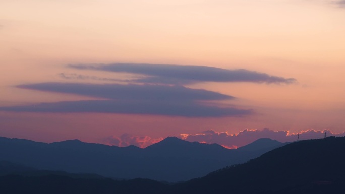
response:
[[[345,136],[345,132],[341,134],[334,134],[330,130],[315,131],[306,130],[299,133],[300,140],[318,139],[324,137],[324,132],[327,136]],[[229,134],[227,132],[216,132],[208,130],[199,134],[181,134],[180,137],[190,142],[206,142],[216,143],[228,148],[236,148],[245,146],[254,142],[259,138],[270,138],[280,142],[292,142],[297,140],[297,134],[289,134],[289,131],[273,131],[265,128],[264,130],[244,130],[237,134]]]

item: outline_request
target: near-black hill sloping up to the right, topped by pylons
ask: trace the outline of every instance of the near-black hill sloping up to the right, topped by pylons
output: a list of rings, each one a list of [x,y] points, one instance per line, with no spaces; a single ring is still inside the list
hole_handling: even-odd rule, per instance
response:
[[[343,193],[345,137],[305,140],[176,185],[175,193]]]

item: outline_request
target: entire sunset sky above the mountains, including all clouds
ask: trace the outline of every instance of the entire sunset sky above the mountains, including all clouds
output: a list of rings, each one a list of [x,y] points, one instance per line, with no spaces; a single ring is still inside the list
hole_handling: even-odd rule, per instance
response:
[[[1,0],[0,136],[345,135],[345,2]]]

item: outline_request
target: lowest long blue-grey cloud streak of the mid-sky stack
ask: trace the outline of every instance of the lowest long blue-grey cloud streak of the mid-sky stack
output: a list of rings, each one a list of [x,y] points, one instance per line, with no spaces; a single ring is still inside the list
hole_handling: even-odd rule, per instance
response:
[[[252,110],[231,107],[216,107],[197,104],[194,102],[155,102],[131,100],[84,100],[40,103],[28,106],[0,107],[0,111],[15,112],[98,112],[120,114],[150,114],[184,117],[222,117],[243,116],[252,113]]]

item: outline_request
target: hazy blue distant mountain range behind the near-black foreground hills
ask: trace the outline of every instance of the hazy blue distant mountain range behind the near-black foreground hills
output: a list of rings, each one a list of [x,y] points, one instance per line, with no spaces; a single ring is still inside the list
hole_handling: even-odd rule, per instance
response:
[[[255,144],[256,150],[250,149],[250,146],[231,150],[218,144],[201,144],[168,137],[141,149],[136,146],[120,148],[79,140],[47,144],[0,137],[0,160],[37,169],[176,182],[246,162],[279,146],[278,142],[269,140],[264,141],[264,144]]]

